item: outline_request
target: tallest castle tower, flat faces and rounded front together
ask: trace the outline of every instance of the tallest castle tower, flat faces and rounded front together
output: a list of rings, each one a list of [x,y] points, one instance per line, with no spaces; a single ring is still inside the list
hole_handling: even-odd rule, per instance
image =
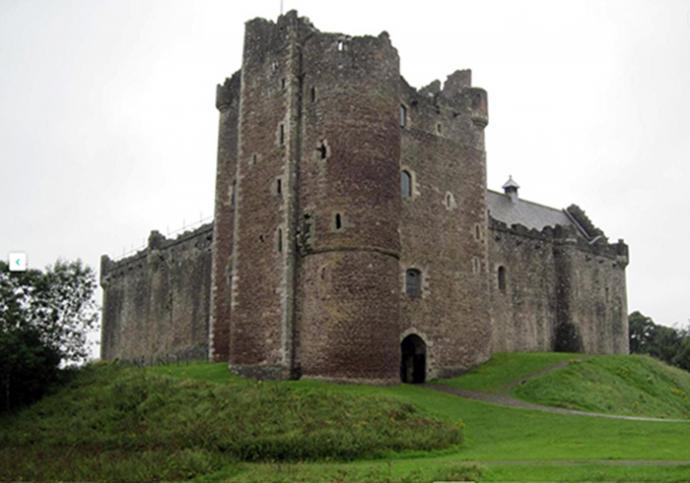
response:
[[[400,71],[387,34],[247,23],[219,86],[211,355],[261,377],[398,378]]]

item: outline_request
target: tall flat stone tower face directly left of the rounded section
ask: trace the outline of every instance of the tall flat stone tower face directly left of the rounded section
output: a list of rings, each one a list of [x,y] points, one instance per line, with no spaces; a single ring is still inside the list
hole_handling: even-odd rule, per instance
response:
[[[237,372],[287,377],[294,278],[294,15],[247,22],[236,171],[229,360]]]

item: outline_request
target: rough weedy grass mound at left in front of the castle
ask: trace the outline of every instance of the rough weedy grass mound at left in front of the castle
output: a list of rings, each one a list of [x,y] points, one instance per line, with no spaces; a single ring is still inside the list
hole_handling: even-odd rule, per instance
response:
[[[348,460],[460,441],[460,424],[395,399],[325,384],[227,376],[218,384],[202,379],[227,375],[223,364],[190,367],[192,377],[108,364],[81,370],[0,420],[0,479],[180,479],[229,461]]]

